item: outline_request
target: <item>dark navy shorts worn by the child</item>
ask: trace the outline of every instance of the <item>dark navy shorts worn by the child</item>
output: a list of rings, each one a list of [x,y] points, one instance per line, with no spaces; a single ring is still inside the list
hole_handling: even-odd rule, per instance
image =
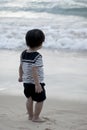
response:
[[[29,98],[31,97],[32,100],[36,102],[42,102],[46,99],[46,92],[45,92],[45,84],[41,83],[43,91],[41,93],[35,92],[35,85],[31,83],[24,83],[24,95]]]

